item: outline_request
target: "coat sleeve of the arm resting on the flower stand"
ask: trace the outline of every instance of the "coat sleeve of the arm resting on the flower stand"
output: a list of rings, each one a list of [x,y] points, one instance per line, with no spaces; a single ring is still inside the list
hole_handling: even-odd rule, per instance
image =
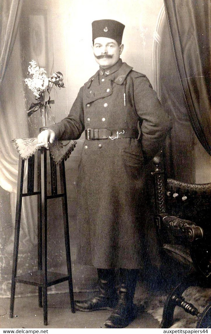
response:
[[[76,140],[84,131],[83,87],[80,88],[69,115],[61,122],[50,126],[60,140]]]

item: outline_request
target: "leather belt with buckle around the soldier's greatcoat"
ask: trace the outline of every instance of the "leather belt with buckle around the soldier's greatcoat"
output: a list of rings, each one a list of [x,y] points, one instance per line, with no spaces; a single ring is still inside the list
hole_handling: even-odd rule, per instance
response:
[[[95,139],[118,139],[118,138],[138,138],[138,129],[87,129],[85,138],[88,140]]]

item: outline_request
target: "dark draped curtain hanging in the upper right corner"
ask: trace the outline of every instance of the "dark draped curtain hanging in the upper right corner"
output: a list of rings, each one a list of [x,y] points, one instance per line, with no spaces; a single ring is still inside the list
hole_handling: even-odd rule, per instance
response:
[[[164,0],[164,5],[187,114],[211,155],[210,1]]]

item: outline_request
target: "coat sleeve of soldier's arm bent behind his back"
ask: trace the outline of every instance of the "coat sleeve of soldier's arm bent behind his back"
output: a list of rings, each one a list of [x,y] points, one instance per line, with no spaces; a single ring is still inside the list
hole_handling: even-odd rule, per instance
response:
[[[169,117],[146,76],[133,78],[134,104],[142,120],[142,150],[146,161],[152,159],[164,145],[170,128]]]

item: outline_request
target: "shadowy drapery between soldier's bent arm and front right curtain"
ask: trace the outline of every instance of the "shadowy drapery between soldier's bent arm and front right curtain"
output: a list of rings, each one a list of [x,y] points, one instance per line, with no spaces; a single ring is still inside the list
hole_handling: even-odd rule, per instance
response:
[[[160,31],[161,103],[171,117],[170,138],[166,142],[166,170],[170,178],[195,182],[195,134],[189,120],[185,96],[170,40],[166,17]],[[201,145],[201,144],[200,144]],[[206,152],[205,152],[206,153]]]

